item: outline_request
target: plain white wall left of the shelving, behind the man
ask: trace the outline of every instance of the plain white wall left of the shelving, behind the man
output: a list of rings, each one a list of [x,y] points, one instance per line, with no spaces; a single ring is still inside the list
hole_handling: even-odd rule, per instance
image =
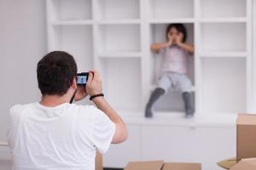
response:
[[[45,1],[0,1],[0,140],[9,107],[39,99],[36,65],[46,53],[45,23]]]

